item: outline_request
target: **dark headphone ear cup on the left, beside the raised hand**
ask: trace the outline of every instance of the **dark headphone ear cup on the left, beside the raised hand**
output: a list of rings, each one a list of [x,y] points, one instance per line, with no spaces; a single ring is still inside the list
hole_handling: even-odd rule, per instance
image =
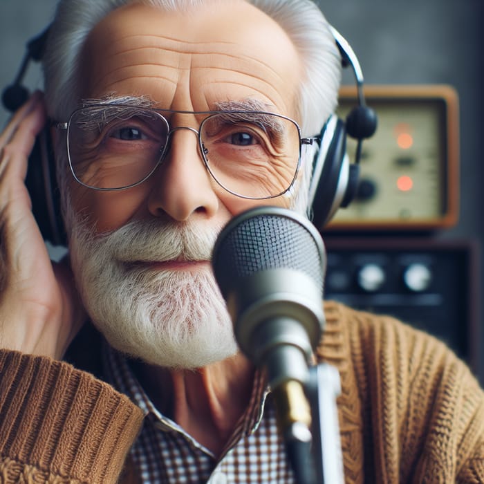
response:
[[[44,240],[53,245],[66,245],[55,161],[47,129],[41,131],[35,141],[28,159],[25,183],[32,201],[32,213]]]

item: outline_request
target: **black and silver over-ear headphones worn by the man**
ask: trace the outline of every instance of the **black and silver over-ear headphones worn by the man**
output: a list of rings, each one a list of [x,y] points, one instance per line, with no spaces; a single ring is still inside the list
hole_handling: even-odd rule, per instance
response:
[[[342,57],[342,66],[351,66],[355,75],[358,103],[347,115],[346,120],[331,115],[317,137],[319,147],[313,160],[309,203],[312,207],[313,224],[319,229],[331,219],[339,207],[348,206],[355,197],[362,141],[373,136],[377,127],[375,112],[366,106],[364,100],[360,63],[344,37],[335,28],[330,28]],[[3,91],[2,102],[8,111],[16,111],[28,99],[28,90],[21,82],[30,60],[41,60],[47,37],[48,28],[28,41],[17,77]],[[349,162],[346,154],[346,136],[357,140],[353,163]],[[44,239],[54,245],[65,245],[66,233],[60,210],[55,162],[47,129],[39,133],[28,160],[26,187],[32,200],[32,212]]]

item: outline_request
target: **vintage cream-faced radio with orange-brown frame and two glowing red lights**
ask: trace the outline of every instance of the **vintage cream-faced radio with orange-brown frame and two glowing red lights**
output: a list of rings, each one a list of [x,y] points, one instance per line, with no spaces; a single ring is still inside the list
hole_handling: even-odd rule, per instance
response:
[[[325,230],[422,231],[458,219],[458,96],[450,86],[366,86],[378,115],[363,143],[355,200]],[[339,115],[355,105],[344,87]],[[355,142],[348,138],[351,157]]]

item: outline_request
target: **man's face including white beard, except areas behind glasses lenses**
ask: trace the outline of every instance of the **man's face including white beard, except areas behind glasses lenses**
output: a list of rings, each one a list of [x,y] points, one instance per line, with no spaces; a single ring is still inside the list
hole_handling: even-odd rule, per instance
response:
[[[244,1],[185,14],[132,4],[89,35],[82,97],[142,96],[154,108],[175,111],[251,100],[294,118],[299,71],[283,30]],[[170,123],[172,129],[199,128],[193,114],[173,115]],[[109,342],[177,368],[233,355],[232,322],[210,268],[211,252],[232,216],[268,201],[240,198],[214,183],[188,129],[174,131],[162,165],[138,186],[100,192],[73,180],[70,188],[73,270]],[[290,198],[269,202],[288,206]]]

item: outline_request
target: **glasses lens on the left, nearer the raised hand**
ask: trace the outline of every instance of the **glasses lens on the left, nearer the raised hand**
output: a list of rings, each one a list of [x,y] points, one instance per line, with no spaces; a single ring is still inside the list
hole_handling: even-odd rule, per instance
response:
[[[158,165],[168,131],[159,113],[136,106],[90,106],[75,111],[68,127],[73,174],[93,188],[139,183]]]

